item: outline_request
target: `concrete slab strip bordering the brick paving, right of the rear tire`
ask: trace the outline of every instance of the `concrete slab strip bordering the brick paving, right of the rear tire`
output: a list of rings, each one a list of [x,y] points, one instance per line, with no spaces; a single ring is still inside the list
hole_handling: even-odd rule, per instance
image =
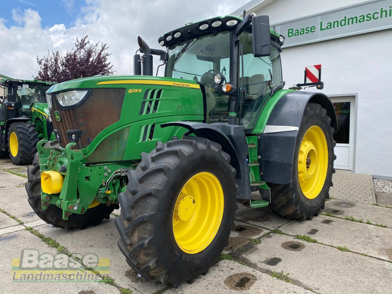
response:
[[[392,209],[390,208],[335,199],[325,202],[325,209],[339,210],[342,212],[337,215],[339,217],[352,216],[358,220],[363,219],[364,222],[371,221],[392,228]]]

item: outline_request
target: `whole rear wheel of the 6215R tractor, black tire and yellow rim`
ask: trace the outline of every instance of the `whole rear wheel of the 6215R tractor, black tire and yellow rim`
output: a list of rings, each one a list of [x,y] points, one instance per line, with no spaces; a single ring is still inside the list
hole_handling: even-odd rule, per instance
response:
[[[289,184],[267,183],[271,189],[271,209],[289,219],[311,220],[324,209],[335,172],[334,147],[327,111],[316,103],[305,109],[298,130],[292,178]]]

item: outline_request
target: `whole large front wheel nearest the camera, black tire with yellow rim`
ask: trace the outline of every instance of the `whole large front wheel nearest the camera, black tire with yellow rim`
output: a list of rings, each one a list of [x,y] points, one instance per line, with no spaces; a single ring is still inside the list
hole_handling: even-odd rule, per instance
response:
[[[191,283],[220,259],[237,209],[236,172],[221,146],[197,137],[162,144],[128,172],[118,246],[155,282]]]

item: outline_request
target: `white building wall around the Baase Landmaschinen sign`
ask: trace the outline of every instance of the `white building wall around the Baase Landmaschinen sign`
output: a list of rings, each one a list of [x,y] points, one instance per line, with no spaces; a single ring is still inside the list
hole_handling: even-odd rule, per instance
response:
[[[276,0],[256,14],[269,15],[274,24],[362,1],[314,2]],[[305,65],[321,64],[321,92],[358,93],[355,172],[392,177],[391,52],[392,29],[283,49],[286,87],[303,83]]]

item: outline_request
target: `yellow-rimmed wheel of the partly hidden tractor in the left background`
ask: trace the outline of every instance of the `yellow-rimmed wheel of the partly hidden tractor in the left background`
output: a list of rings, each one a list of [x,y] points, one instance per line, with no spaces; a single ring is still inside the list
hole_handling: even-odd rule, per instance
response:
[[[16,165],[33,162],[37,152],[38,134],[31,123],[13,123],[8,130],[9,156]]]

